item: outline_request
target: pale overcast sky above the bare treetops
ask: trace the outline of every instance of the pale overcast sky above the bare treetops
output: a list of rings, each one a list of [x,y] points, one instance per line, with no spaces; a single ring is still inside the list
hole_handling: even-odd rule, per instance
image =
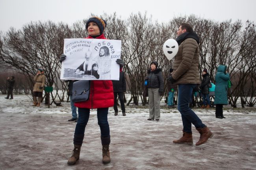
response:
[[[51,20],[73,24],[91,13],[117,13],[122,19],[131,13],[152,15],[153,20],[168,22],[174,16],[195,14],[223,21],[256,20],[255,0],[0,0],[0,31],[20,29],[30,21]]]

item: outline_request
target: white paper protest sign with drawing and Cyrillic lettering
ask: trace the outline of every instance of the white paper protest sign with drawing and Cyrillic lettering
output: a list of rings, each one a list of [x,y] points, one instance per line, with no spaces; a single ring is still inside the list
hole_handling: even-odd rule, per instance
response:
[[[63,54],[62,80],[119,80],[121,40],[64,39]]]

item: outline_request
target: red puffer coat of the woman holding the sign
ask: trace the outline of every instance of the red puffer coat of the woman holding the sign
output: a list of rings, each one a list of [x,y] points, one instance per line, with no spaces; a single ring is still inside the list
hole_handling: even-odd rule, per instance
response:
[[[87,38],[93,38],[90,35]],[[96,37],[97,39],[106,39],[104,34]],[[113,107],[114,105],[114,93],[113,84],[111,80],[92,80],[90,97],[87,101],[81,101],[74,103],[76,107],[97,109]]]

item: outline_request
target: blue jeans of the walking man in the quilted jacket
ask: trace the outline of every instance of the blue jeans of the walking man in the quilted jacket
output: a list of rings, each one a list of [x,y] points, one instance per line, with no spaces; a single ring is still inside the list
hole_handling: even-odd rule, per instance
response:
[[[183,130],[189,133],[192,132],[191,124],[193,124],[196,128],[205,127],[195,112],[189,108],[189,101],[195,87],[195,84],[178,85],[178,110],[181,114]]]

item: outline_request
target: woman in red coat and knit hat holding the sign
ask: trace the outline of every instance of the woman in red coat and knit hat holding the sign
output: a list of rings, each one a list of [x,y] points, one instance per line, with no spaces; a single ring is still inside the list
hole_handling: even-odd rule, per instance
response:
[[[104,31],[107,22],[97,16],[89,18],[86,22],[87,38],[106,39]],[[66,55],[62,54],[59,61],[62,62]],[[117,59],[116,63],[121,67],[124,62]],[[74,132],[74,149],[67,164],[75,164],[80,157],[80,150],[83,143],[85,127],[90,116],[90,109],[97,109],[98,125],[100,126],[100,139],[102,144],[102,163],[110,163],[110,130],[108,124],[108,108],[114,105],[113,83],[111,80],[91,80],[90,97],[87,101],[81,101],[74,104],[78,107],[78,121]],[[87,135],[87,138],[89,135]]]

